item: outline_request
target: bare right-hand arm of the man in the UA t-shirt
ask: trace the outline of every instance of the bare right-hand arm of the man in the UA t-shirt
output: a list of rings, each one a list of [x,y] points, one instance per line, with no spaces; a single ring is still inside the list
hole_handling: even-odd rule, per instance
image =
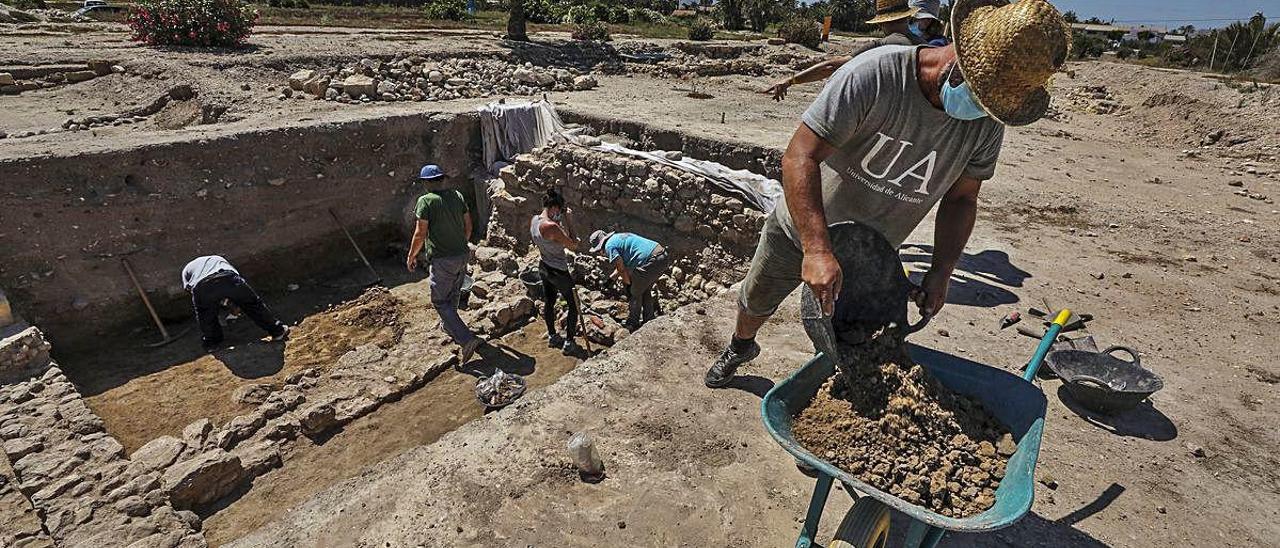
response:
[[[932,266],[920,286],[923,291],[915,294],[915,303],[924,316],[938,314],[947,301],[951,273],[964,255],[964,246],[969,242],[974,219],[978,216],[979,189],[982,189],[980,181],[960,177],[942,197],[937,223],[933,227]]]

